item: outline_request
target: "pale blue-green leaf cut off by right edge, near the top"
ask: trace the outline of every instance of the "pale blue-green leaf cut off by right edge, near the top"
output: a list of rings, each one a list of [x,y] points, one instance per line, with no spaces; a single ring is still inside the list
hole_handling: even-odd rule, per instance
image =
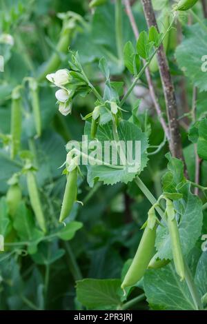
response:
[[[200,91],[206,91],[206,63],[201,60],[207,52],[206,30],[195,23],[186,28],[185,36],[175,52],[179,68]]]

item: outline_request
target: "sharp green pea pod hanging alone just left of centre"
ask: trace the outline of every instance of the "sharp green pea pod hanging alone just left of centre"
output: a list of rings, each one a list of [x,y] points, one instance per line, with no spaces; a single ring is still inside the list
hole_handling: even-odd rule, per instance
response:
[[[63,196],[63,203],[61,206],[61,214],[59,222],[63,222],[69,216],[72,206],[77,198],[77,168],[69,172],[67,176],[66,189]]]

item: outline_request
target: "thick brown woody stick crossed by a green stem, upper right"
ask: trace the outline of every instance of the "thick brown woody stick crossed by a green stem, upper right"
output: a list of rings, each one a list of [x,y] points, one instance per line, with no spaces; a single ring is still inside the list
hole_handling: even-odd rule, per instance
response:
[[[148,28],[150,28],[151,26],[155,26],[155,28],[157,28],[157,30],[159,31],[157,21],[155,18],[155,12],[152,8],[152,1],[141,0],[141,3],[144,8],[144,14],[146,17]],[[174,19],[172,19],[172,21],[174,21]],[[166,101],[166,110],[170,129],[170,152],[172,153],[172,156],[175,156],[177,157],[177,159],[181,159],[182,161],[184,161],[183,149],[181,145],[181,135],[179,132],[179,122],[177,121],[178,113],[175,89],[170,75],[166,52],[162,43],[157,51],[157,61],[159,65],[159,74],[161,77],[162,88],[164,90],[164,97]]]

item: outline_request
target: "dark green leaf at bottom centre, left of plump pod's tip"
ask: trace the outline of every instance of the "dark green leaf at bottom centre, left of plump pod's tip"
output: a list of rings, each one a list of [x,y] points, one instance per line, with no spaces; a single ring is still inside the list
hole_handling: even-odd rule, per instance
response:
[[[77,299],[89,309],[116,309],[120,305],[121,280],[83,279],[77,281]]]

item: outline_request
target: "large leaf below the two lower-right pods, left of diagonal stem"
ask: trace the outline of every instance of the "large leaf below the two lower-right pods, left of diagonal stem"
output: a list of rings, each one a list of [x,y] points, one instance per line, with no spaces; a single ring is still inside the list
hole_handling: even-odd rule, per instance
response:
[[[180,281],[172,264],[144,275],[144,292],[155,310],[195,310],[185,281]]]

